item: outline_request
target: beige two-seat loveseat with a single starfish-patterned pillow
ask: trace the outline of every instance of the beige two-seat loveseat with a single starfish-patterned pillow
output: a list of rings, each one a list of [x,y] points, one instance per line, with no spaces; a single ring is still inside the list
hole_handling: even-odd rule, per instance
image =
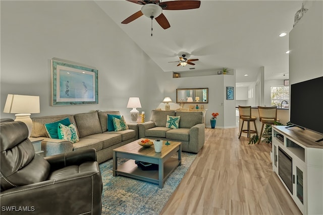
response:
[[[167,115],[180,116],[179,128],[166,127]],[[182,142],[182,151],[198,153],[204,145],[205,124],[202,112],[152,110],[150,121],[139,124],[139,138]]]

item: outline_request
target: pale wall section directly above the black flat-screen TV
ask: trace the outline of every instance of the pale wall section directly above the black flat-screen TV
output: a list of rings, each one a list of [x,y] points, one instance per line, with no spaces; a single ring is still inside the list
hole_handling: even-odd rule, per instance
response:
[[[323,76],[323,2],[313,1],[289,33],[289,84]]]

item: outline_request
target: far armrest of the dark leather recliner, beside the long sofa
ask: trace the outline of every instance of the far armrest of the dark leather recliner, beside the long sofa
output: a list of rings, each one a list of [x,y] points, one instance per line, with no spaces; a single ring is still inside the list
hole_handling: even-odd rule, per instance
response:
[[[51,171],[53,171],[71,165],[80,165],[87,161],[96,161],[96,150],[85,149],[60,155],[53,155],[45,157],[45,159],[50,164]]]

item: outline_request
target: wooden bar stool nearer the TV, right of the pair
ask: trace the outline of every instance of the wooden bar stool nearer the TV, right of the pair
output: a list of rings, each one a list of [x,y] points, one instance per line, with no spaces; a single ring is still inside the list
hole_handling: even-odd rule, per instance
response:
[[[275,121],[279,121],[277,118],[277,106],[273,107],[261,107],[258,106],[258,112],[259,112],[259,121],[262,123],[261,125],[261,131],[260,131],[260,136],[258,140],[258,144],[261,140],[262,137],[262,130],[263,130],[263,125],[273,125]]]

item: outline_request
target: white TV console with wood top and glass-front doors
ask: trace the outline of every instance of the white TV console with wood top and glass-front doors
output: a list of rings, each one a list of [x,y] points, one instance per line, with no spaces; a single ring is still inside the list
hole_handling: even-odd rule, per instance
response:
[[[323,214],[323,141],[316,142],[322,135],[299,127],[272,128],[273,171],[303,214]]]

